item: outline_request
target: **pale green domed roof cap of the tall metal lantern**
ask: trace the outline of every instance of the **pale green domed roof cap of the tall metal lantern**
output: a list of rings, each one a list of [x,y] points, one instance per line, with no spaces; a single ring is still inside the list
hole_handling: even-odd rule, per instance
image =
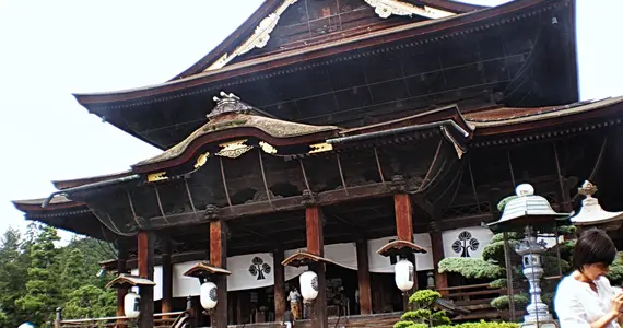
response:
[[[573,214],[555,212],[544,197],[534,195],[534,188],[530,184],[517,186],[515,194],[516,196],[508,197],[502,218],[487,224],[490,229],[505,231],[517,226],[541,225],[568,219]]]

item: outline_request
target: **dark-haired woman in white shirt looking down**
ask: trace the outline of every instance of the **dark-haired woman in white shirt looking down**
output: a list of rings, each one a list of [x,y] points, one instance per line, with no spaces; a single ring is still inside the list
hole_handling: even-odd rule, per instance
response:
[[[592,229],[579,236],[573,250],[575,271],[561,281],[554,297],[561,328],[621,328],[623,293],[603,277],[615,256],[604,232]]]

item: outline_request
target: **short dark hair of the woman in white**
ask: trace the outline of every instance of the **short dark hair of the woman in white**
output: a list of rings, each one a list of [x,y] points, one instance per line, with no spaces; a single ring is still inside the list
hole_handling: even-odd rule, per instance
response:
[[[573,267],[578,271],[585,265],[612,265],[616,257],[616,247],[610,237],[601,230],[590,229],[581,233],[573,249]]]

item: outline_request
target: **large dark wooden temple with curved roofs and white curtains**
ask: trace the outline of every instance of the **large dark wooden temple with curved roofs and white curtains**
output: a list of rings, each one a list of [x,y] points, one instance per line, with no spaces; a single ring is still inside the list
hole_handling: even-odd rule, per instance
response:
[[[188,297],[198,326],[278,327],[306,267],[305,326],[389,327],[391,250],[418,251],[414,290],[460,305],[465,281],[437,263],[480,256],[481,223],[517,184],[569,211],[589,178],[621,208],[623,97],[578,102],[573,0],[267,0],[171,81],[75,98],[162,154],[14,204],[114,243],[106,270],[154,282],[140,327]],[[209,314],[201,274],[219,291]]]

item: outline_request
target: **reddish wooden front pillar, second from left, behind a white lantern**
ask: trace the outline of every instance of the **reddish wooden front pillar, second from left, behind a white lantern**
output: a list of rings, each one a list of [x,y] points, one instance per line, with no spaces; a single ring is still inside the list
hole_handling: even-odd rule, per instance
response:
[[[210,222],[210,263],[218,268],[227,268],[227,225],[225,221]],[[216,308],[212,314],[213,328],[227,327],[227,277],[219,276],[213,281],[216,284]]]

